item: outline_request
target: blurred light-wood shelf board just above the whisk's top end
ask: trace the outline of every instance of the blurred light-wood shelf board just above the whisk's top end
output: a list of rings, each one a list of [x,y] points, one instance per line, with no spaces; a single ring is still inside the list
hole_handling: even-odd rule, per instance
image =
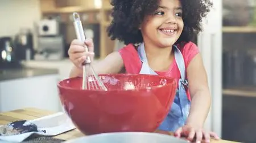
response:
[[[100,11],[100,8],[84,8],[80,6],[70,6],[63,8],[56,8],[55,10],[44,10],[43,14],[54,14],[54,13],[72,13],[72,12],[93,12]]]

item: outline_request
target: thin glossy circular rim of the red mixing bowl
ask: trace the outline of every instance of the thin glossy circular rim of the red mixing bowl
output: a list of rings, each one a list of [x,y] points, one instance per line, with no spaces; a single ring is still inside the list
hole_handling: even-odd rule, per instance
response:
[[[134,74],[134,73],[103,73],[103,74],[98,74],[98,76],[112,76],[112,75],[128,75],[128,76],[138,76],[138,75],[144,75],[144,76],[155,76],[155,77],[163,77],[165,79],[172,80],[171,83],[167,83],[165,85],[155,85],[155,86],[150,86],[150,88],[140,88],[140,89],[127,89],[127,90],[119,90],[119,89],[110,89],[110,90],[90,90],[90,89],[77,89],[77,88],[70,88],[67,86],[60,85],[60,83],[67,81],[67,80],[72,80],[72,79],[78,79],[82,77],[71,77],[68,79],[63,79],[58,81],[57,87],[66,89],[66,90],[82,90],[82,91],[89,91],[89,92],[129,92],[129,91],[143,91],[143,90],[151,90],[151,89],[156,89],[156,88],[163,88],[164,86],[169,86],[172,84],[176,84],[176,80],[173,77],[168,77],[168,76],[160,76],[160,75],[147,75],[147,74]]]

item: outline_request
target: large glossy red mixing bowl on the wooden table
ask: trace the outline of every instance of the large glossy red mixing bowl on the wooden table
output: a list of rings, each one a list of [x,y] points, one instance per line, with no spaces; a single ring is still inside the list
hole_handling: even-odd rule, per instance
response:
[[[154,132],[174,101],[176,81],[155,75],[98,75],[108,91],[82,90],[82,78],[60,81],[59,97],[85,135]]]

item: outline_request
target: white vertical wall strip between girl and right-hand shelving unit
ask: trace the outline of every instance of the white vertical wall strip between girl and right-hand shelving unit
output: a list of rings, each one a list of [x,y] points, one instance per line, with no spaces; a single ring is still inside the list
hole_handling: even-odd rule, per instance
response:
[[[208,74],[212,94],[212,107],[205,128],[221,137],[222,127],[222,0],[210,0],[213,9],[204,23],[204,31],[199,34],[198,46]]]

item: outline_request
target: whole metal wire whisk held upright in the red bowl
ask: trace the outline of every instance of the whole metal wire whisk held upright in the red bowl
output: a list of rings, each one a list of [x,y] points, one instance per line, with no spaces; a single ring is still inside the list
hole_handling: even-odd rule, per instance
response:
[[[81,42],[85,41],[84,29],[82,28],[82,23],[79,14],[73,12],[74,26],[76,30],[76,37]],[[88,47],[85,46],[85,51],[88,52]],[[84,63],[82,63],[83,74],[82,74],[82,89],[97,89],[97,90],[108,90],[106,86],[100,80],[100,77],[94,72],[91,66],[90,57],[86,57]]]

